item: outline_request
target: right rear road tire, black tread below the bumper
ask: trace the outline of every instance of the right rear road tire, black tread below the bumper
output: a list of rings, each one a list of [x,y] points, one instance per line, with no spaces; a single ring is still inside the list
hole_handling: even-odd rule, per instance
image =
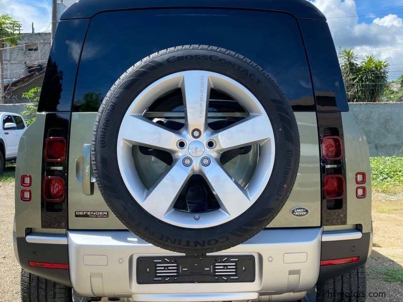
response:
[[[365,302],[365,267],[325,280],[317,284],[316,302]]]

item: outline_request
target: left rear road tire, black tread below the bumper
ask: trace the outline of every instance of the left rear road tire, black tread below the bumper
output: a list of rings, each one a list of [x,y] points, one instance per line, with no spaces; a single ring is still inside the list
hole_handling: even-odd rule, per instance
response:
[[[21,302],[72,302],[68,286],[21,270]]]

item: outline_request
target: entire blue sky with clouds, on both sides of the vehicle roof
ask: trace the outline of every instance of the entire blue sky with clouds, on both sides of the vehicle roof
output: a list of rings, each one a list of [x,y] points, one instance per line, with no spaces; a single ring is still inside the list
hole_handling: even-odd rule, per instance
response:
[[[337,49],[386,59],[391,80],[403,73],[403,0],[309,1],[328,18]],[[25,32],[31,31],[31,22],[36,32],[50,30],[50,8],[51,0],[0,0],[0,12],[22,21]]]

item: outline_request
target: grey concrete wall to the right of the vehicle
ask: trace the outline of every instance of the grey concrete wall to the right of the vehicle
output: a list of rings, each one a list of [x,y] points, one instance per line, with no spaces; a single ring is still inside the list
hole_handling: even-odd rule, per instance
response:
[[[370,156],[403,155],[403,103],[350,103]]]

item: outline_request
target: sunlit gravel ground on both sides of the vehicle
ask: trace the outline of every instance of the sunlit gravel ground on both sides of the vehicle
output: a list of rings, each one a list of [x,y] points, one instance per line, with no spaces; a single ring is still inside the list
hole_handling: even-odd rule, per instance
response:
[[[13,250],[14,184],[0,182],[0,300],[20,301],[20,266]],[[379,267],[402,268],[403,265],[403,196],[375,195],[372,210],[374,244],[367,262],[367,294],[385,292],[383,298],[367,301],[402,300],[403,283],[387,282]]]

